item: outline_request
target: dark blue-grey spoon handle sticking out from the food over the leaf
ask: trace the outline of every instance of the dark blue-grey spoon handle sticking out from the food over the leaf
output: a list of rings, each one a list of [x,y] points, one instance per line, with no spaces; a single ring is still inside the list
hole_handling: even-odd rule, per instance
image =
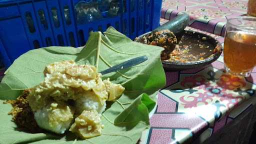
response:
[[[114,65],[114,66],[112,66],[108,69],[103,70],[103,71],[100,71],[99,73],[101,73],[103,75],[103,74],[106,74],[106,73],[110,73],[110,72],[114,72],[114,71],[117,71],[117,70],[125,69],[125,68],[128,68],[128,67],[137,65],[139,63],[142,63],[146,60],[147,60],[146,55],[135,57],[135,58],[129,59],[127,61],[124,61],[120,64],[116,64],[116,65]]]

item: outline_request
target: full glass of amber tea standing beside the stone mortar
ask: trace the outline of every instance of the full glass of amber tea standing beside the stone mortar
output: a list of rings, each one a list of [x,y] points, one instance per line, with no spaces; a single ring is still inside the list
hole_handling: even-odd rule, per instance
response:
[[[239,16],[227,20],[224,63],[226,72],[250,75],[256,65],[256,17]]]

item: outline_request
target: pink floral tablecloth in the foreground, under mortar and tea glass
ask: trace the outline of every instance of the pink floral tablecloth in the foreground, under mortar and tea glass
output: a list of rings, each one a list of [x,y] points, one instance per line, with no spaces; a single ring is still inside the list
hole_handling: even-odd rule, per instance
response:
[[[223,43],[221,36],[186,28]],[[223,55],[205,67],[165,74],[166,87],[158,93],[151,127],[143,132],[140,143],[183,143],[198,137],[203,142],[246,111],[256,89],[256,68],[247,78],[228,75],[223,72]]]

